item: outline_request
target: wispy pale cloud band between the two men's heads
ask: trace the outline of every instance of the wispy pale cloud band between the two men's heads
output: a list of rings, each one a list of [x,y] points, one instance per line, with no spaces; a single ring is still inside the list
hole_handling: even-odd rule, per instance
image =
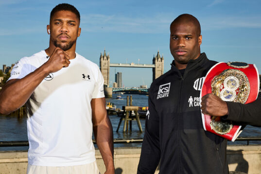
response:
[[[128,17],[120,15],[88,14],[81,17],[82,29],[91,32],[163,33],[173,20],[168,14]]]

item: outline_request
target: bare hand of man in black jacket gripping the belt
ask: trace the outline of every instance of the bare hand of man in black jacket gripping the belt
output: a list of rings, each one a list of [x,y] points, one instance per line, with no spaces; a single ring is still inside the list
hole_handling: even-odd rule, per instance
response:
[[[228,108],[226,102],[214,94],[207,94],[201,98],[202,113],[209,116],[226,116]]]

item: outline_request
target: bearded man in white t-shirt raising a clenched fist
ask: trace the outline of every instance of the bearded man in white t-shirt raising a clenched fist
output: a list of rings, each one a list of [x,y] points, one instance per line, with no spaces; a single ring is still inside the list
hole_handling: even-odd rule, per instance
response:
[[[25,103],[29,140],[27,174],[99,174],[92,130],[114,174],[112,126],[99,67],[75,53],[80,14],[70,4],[52,9],[50,45],[21,58],[0,91],[0,113]]]

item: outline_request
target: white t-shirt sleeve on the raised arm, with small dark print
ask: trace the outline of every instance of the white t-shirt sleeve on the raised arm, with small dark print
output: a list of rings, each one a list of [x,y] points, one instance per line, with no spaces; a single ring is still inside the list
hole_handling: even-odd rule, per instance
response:
[[[26,63],[26,58],[21,58],[16,62],[15,66],[11,71],[11,76],[8,80],[11,79],[21,79],[25,77],[27,74],[32,72],[32,66]]]

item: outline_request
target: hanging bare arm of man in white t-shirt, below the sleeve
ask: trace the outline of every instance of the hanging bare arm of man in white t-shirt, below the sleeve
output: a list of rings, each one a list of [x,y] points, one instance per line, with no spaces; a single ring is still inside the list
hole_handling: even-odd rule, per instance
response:
[[[114,174],[113,132],[105,109],[105,98],[91,100],[93,133],[106,167],[105,174]]]

